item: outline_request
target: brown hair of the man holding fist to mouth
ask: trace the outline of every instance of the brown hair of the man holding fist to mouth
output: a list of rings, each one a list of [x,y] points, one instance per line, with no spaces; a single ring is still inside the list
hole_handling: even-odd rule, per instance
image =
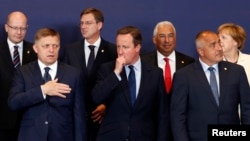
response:
[[[119,34],[130,34],[133,37],[133,43],[135,46],[142,44],[141,31],[134,26],[125,26],[117,30],[116,35]]]

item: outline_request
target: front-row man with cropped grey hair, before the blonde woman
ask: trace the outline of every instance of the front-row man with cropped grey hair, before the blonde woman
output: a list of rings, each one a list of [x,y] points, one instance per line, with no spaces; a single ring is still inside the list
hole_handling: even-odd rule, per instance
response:
[[[239,104],[242,124],[250,124],[244,68],[222,61],[219,38],[212,31],[197,34],[196,49],[199,60],[177,71],[173,79],[170,115],[175,141],[207,141],[209,124],[239,125]]]

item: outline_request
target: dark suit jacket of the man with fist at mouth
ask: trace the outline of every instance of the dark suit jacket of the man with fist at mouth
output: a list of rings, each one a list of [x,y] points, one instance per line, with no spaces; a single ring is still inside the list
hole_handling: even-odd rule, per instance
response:
[[[106,103],[106,113],[97,141],[167,141],[168,104],[162,70],[141,64],[141,83],[134,107],[125,70],[119,81],[115,62],[103,64],[92,96],[95,103]]]

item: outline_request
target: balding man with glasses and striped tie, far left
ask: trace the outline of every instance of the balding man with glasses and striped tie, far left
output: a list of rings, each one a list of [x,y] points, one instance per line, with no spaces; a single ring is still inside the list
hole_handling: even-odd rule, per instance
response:
[[[18,46],[19,65],[34,61],[37,56],[32,43],[24,40],[27,32],[27,17],[20,11],[11,12],[5,24],[7,39],[0,44],[0,139],[16,141],[19,128],[19,113],[8,108],[8,96],[14,66],[14,46]]]

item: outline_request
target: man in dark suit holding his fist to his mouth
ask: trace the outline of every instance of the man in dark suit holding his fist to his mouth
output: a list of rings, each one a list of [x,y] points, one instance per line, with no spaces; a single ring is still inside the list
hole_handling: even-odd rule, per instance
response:
[[[139,29],[119,29],[116,44],[118,58],[101,66],[92,91],[94,102],[106,103],[107,108],[97,141],[167,141],[169,113],[162,70],[141,61]]]

